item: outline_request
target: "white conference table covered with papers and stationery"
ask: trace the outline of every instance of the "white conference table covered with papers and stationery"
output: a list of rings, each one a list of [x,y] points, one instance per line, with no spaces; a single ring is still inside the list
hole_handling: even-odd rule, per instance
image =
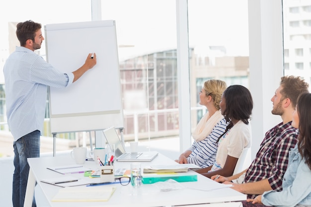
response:
[[[116,187],[109,201],[107,202],[52,202],[52,198],[58,193],[61,187],[40,182],[44,178],[56,178],[63,176],[60,173],[47,169],[47,167],[63,166],[75,164],[70,153],[55,156],[55,157],[40,157],[28,158],[30,166],[29,178],[27,183],[27,191],[24,207],[31,207],[35,181],[42,189],[46,199],[49,201],[51,207],[171,207],[195,205],[208,207],[239,207],[242,206],[240,201],[246,200],[246,195],[234,191],[231,188],[222,188],[211,191],[197,190],[195,188],[207,188],[207,186],[215,185],[215,181],[198,175],[196,182],[182,182],[180,183],[184,188],[172,191],[160,191],[154,184],[142,184],[135,189],[131,184],[122,186],[120,183],[110,186]],[[127,168],[130,169],[131,162],[115,162],[115,169]],[[142,168],[146,165],[162,165],[162,164],[176,164],[168,157],[158,154],[152,162],[141,162]],[[96,169],[99,166],[94,161],[85,161],[84,167]],[[189,172],[193,173],[193,172]],[[99,178],[84,177],[83,173],[70,174],[82,179],[94,179],[94,182],[100,182]],[[75,188],[75,187],[69,187]],[[95,188],[95,187],[85,187]]]

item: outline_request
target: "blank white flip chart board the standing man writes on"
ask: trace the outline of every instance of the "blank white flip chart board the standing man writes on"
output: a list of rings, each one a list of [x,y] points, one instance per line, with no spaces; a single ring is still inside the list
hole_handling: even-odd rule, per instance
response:
[[[89,53],[97,64],[67,88],[50,87],[51,133],[123,128],[123,109],[114,20],[45,25],[47,62],[70,73]]]

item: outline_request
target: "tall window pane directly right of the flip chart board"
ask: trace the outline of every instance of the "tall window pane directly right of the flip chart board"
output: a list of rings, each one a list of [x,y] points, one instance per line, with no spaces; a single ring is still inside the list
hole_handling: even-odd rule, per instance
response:
[[[116,21],[125,140],[177,137],[175,0],[103,0],[102,19]]]

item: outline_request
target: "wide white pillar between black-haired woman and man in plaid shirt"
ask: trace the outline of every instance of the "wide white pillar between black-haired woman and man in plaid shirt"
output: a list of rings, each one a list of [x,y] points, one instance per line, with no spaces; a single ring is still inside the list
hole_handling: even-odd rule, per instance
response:
[[[282,121],[271,114],[271,97],[283,70],[282,0],[248,0],[249,75],[254,100],[252,158],[266,131]]]

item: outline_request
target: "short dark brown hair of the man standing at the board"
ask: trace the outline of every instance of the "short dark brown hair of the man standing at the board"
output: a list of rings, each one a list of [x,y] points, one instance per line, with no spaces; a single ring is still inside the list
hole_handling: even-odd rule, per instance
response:
[[[35,41],[36,32],[41,29],[41,24],[28,20],[16,25],[16,36],[20,46],[25,46],[27,40]]]

